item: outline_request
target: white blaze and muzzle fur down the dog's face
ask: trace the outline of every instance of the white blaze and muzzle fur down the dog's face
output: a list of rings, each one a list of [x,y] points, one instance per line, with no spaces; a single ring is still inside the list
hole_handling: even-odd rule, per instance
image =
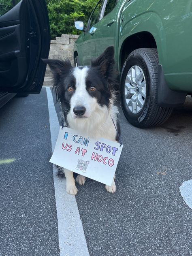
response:
[[[71,114],[74,116],[73,113],[74,107],[81,106],[85,107],[86,112],[84,114],[85,117],[90,117],[92,111],[96,107],[96,98],[93,98],[90,96],[90,94],[87,92],[86,89],[86,77],[88,73],[89,68],[87,66],[81,68],[75,67],[73,71],[73,75],[76,80],[75,85],[75,92],[70,100],[71,105]]]

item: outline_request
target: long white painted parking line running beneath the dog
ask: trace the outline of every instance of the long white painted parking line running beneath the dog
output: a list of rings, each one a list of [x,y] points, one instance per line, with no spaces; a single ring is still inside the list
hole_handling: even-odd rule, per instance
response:
[[[53,151],[58,137],[59,122],[53,103],[51,89],[47,87],[46,91]],[[75,196],[66,193],[65,180],[61,181],[58,179],[56,173],[56,167],[53,166],[60,256],[89,256]]]

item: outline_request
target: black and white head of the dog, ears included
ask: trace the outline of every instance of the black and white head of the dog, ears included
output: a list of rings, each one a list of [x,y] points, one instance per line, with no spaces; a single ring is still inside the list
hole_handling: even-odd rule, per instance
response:
[[[71,118],[89,118],[112,97],[114,49],[108,47],[91,66],[72,67],[69,60],[43,60],[53,73],[55,94]],[[66,111],[67,110],[67,111]]]

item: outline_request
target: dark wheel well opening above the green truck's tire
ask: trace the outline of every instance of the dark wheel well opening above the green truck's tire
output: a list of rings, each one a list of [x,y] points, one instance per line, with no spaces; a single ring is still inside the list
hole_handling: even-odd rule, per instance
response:
[[[126,38],[120,52],[121,70],[128,55],[138,48],[157,48],[154,37],[149,32],[140,32]]]

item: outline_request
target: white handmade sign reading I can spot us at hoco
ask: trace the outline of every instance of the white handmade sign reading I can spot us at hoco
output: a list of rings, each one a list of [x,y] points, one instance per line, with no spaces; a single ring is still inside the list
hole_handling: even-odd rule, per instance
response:
[[[50,162],[111,186],[123,145],[60,127]]]

